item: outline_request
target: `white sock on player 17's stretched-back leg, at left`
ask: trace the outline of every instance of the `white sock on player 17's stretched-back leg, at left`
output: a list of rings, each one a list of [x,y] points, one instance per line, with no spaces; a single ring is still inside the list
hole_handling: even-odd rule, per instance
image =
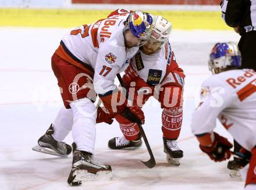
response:
[[[54,128],[54,134],[52,134],[52,137],[54,137],[56,141],[62,141],[72,130],[72,109],[66,109],[65,107],[61,108],[52,124]]]

